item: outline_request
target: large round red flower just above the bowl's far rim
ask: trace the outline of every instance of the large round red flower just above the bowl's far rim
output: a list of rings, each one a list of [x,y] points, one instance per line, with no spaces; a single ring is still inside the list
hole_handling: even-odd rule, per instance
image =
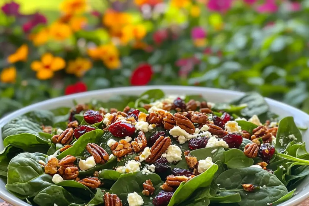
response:
[[[149,64],[142,64],[139,65],[138,68],[136,68],[133,71],[133,74],[131,76],[131,85],[146,85],[148,82],[150,82],[152,77],[152,69],[151,65]]]

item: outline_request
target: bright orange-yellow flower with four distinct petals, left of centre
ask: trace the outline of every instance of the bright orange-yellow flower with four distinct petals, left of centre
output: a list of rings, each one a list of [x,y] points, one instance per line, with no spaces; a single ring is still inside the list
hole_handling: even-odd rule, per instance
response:
[[[33,61],[31,69],[36,71],[36,77],[41,80],[50,79],[54,72],[63,69],[66,62],[61,57],[54,57],[51,53],[45,53],[41,61]]]

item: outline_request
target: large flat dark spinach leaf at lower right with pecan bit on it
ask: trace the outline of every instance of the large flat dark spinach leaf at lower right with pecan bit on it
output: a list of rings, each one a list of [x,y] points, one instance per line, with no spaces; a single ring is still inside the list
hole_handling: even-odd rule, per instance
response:
[[[220,184],[219,195],[221,196],[239,193],[241,202],[238,204],[240,206],[265,205],[279,200],[288,192],[274,174],[253,167],[227,170],[218,176],[215,183]],[[258,185],[260,188],[254,192],[247,192],[243,190],[242,184]]]

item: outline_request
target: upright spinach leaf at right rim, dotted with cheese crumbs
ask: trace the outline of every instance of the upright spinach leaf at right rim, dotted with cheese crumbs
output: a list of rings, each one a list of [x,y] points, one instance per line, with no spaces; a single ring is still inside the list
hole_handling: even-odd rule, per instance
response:
[[[289,135],[294,135],[297,142],[302,142],[302,134],[299,132],[293,117],[285,117],[280,120],[276,136],[276,149],[278,153],[284,151],[286,146],[293,141]]]

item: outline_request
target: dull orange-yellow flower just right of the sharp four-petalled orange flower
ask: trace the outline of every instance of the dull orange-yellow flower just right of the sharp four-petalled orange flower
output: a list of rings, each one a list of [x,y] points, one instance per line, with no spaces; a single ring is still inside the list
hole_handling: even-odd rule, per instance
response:
[[[85,72],[91,69],[91,67],[91,61],[86,58],[78,57],[77,59],[68,62],[66,72],[68,74],[75,74],[77,77],[82,77]]]

